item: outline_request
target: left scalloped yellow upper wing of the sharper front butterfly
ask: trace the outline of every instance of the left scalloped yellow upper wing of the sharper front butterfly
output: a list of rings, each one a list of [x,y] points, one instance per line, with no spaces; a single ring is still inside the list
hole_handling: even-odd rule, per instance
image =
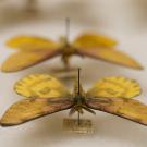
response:
[[[69,89],[48,74],[28,75],[17,82],[14,89],[27,98],[71,97]]]

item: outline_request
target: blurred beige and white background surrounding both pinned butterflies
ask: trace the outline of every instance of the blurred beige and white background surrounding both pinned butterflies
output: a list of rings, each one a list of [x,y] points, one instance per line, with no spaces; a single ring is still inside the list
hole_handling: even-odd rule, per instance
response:
[[[91,60],[72,58],[73,66],[82,68],[82,82],[87,89],[103,76],[123,75],[140,83],[139,100],[147,103],[147,0],[0,0],[0,64],[13,52],[4,42],[15,35],[37,35],[58,40],[65,34],[65,17],[71,19],[71,41],[81,33],[96,32],[119,40],[118,48],[138,60],[144,71]],[[0,117],[22,97],[13,91],[14,83],[30,73],[49,73],[61,65],[60,59],[28,70],[0,73]],[[72,82],[71,85],[72,87]],[[62,120],[68,111],[56,113],[21,126],[0,128],[3,147],[146,147],[147,127],[111,114],[97,112],[84,118],[93,120],[93,135],[68,134]]]

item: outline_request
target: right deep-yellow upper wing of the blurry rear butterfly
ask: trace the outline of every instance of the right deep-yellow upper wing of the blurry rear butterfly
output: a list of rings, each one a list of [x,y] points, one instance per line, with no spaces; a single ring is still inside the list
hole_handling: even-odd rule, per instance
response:
[[[101,46],[112,47],[112,46],[115,46],[117,44],[118,44],[117,40],[108,36],[86,33],[86,34],[79,35],[73,42],[73,46],[75,48],[96,48],[96,47],[101,47]]]

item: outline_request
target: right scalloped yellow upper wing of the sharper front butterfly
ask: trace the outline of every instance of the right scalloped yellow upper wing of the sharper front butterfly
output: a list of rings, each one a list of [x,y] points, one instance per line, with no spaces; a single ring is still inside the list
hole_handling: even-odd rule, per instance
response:
[[[112,76],[97,82],[88,90],[87,97],[133,98],[138,96],[140,91],[142,89],[136,81],[121,76]]]

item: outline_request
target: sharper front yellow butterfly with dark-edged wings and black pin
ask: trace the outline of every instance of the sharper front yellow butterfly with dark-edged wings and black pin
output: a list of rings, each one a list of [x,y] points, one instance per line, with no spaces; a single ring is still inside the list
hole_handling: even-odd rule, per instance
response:
[[[105,111],[147,125],[147,106],[132,99],[140,94],[140,87],[136,81],[125,77],[106,77],[84,91],[78,70],[74,90],[70,93],[57,78],[33,74],[17,82],[14,89],[27,98],[7,110],[1,126],[19,125],[66,109],[70,109],[70,114],[76,111],[81,114],[83,110],[94,114],[94,110]]]

